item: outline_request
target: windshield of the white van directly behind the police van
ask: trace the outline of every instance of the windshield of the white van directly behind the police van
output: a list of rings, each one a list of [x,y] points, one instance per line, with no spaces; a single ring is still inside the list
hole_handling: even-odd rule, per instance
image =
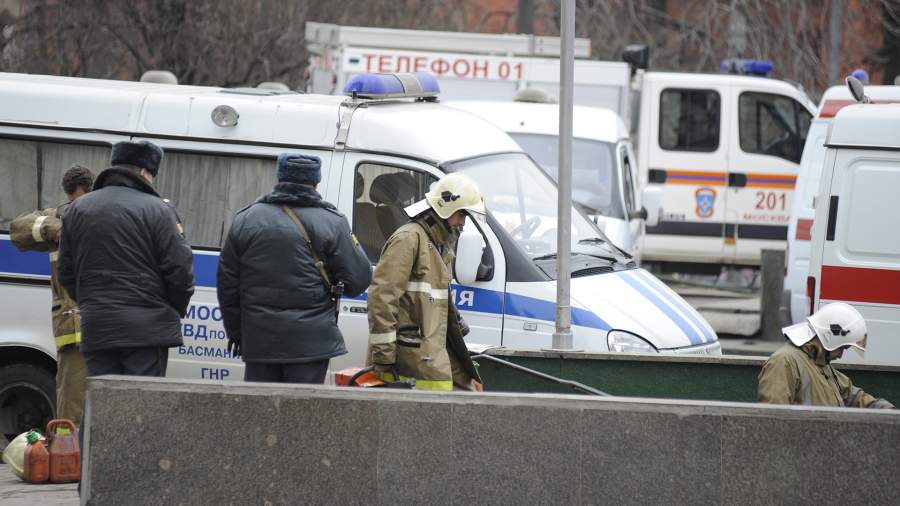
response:
[[[510,133],[519,146],[559,181],[559,137],[556,135]],[[615,146],[609,142],[572,139],[572,200],[587,215],[624,219],[617,191]]]

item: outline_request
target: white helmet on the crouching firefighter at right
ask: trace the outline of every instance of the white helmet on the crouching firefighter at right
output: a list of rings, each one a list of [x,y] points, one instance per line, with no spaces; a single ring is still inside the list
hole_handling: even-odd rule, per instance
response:
[[[866,351],[866,320],[856,308],[844,302],[823,306],[805,322],[785,327],[782,331],[797,346],[818,337],[822,347],[828,351],[842,346]]]

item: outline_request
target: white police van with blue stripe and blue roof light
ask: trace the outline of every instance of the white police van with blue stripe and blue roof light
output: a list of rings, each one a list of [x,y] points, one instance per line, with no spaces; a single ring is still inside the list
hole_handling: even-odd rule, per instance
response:
[[[456,272],[453,300],[473,343],[548,347],[555,318],[557,192],[502,130],[436,103],[437,83],[362,75],[349,96],[257,88],[222,89],[0,74],[0,230],[18,214],[64,199],[58,181],[78,163],[100,171],[112,143],[146,139],[166,154],[155,186],[177,205],[194,249],[196,292],[183,320],[184,345],[168,374],[239,380],[216,302],[219,249],[234,213],[275,183],[275,158],[300,151],[322,160],[319,192],[347,216],[375,264],[404,207],[443,174],[462,171],[486,195],[475,255]],[[461,241],[473,244],[472,241]],[[590,351],[719,354],[716,334],[684,300],[572,213],[575,346]],[[462,252],[461,252],[462,253]],[[474,260],[472,260],[474,258]],[[477,264],[477,265],[476,265]],[[54,344],[46,254],[19,253],[0,235],[0,412],[6,424],[52,405]],[[333,368],[363,363],[365,296],[340,303],[350,350]],[[15,416],[10,413],[15,413]],[[46,411],[44,411],[46,413]],[[21,427],[16,427],[16,429]]]

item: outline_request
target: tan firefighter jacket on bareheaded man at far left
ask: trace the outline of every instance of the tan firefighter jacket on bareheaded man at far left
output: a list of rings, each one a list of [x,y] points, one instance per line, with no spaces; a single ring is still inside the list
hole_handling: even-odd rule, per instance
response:
[[[69,297],[59,282],[59,236],[62,217],[69,204],[43,209],[19,216],[10,224],[10,240],[19,251],[48,251],[50,253],[50,289],[53,293],[53,335],[56,349],[81,343],[81,318],[78,304]]]

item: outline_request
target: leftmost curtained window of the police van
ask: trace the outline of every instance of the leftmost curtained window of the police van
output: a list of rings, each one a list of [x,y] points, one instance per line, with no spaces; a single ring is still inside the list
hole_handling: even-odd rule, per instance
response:
[[[0,139],[0,230],[20,214],[68,202],[63,173],[77,164],[96,176],[109,156],[109,145]]]

